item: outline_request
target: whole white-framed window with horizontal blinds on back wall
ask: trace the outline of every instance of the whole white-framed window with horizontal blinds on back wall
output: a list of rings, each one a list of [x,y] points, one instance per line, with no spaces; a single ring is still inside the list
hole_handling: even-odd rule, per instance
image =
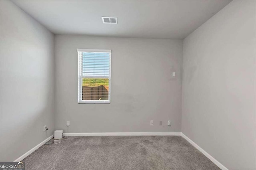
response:
[[[78,103],[110,103],[111,50],[77,51]]]

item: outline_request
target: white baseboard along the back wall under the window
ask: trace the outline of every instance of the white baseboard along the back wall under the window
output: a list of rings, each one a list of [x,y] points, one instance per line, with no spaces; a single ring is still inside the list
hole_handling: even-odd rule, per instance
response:
[[[63,133],[63,136],[180,136],[181,132]]]

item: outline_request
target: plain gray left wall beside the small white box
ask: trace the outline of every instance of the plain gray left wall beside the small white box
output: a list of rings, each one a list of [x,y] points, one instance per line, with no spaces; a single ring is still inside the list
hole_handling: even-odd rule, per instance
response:
[[[54,35],[0,0],[0,161],[14,161],[54,130]]]

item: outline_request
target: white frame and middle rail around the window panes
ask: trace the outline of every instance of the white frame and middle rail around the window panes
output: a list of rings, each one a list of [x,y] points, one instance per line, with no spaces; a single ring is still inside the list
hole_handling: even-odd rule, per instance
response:
[[[111,92],[111,50],[110,49],[77,49],[78,52],[78,104],[99,104],[99,103],[110,103],[110,92]],[[83,66],[81,63],[81,57],[79,56],[79,52],[91,52],[91,53],[109,53],[109,78],[108,78],[108,100],[82,100],[82,79],[88,78],[90,76],[82,75]],[[92,76],[92,78],[106,78],[104,76]]]

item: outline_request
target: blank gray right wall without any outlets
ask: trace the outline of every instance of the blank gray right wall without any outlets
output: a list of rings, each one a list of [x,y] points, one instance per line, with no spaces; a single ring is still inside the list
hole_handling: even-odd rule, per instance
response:
[[[228,169],[256,169],[256,1],[184,40],[182,132]]]

